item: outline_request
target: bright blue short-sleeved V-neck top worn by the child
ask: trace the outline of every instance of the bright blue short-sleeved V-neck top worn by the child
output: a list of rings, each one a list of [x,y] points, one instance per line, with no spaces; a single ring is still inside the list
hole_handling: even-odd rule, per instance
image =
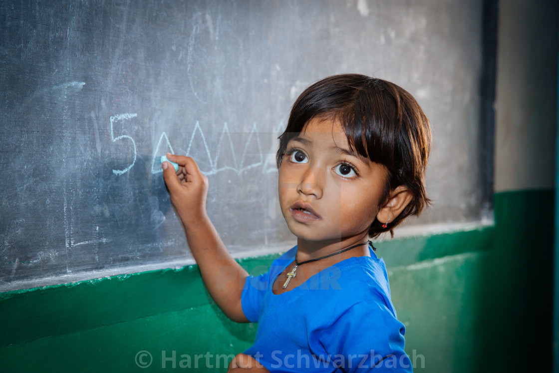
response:
[[[274,281],[296,252],[293,247],[268,272],[245,281],[243,311],[258,322],[245,353],[274,372],[411,372],[384,260],[369,247],[370,257],[345,259],[273,294]]]

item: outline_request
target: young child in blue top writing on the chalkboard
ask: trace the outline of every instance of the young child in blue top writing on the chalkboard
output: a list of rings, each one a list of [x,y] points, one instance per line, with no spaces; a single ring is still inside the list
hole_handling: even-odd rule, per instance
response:
[[[369,238],[430,201],[429,121],[396,84],[334,75],[293,104],[277,152],[279,196],[297,245],[249,276],[206,214],[207,178],[194,160],[163,163],[203,281],[236,322],[258,322],[254,346],[230,371],[412,371],[382,258]]]

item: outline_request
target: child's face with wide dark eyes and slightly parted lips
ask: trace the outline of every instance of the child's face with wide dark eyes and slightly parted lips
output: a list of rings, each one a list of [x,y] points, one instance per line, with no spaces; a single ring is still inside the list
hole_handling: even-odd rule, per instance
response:
[[[384,166],[350,150],[338,122],[312,119],[283,155],[283,217],[291,232],[305,240],[367,237],[386,178]]]

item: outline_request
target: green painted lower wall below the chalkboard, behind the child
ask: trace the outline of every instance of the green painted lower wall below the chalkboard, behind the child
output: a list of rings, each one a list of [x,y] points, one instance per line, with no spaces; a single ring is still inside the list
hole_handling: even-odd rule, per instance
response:
[[[377,245],[416,371],[551,370],[553,191],[494,203],[494,226]],[[258,273],[274,257],[241,264]],[[256,330],[224,317],[196,266],[2,293],[0,320],[10,372],[155,371],[162,351],[166,369],[175,351],[176,369],[222,372]]]

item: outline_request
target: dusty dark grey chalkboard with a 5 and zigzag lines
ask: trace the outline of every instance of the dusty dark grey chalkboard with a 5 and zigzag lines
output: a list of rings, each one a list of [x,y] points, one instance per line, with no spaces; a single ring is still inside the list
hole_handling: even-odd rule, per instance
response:
[[[295,242],[274,153],[293,100],[357,72],[433,122],[433,211],[480,219],[481,1],[2,1],[0,290],[192,263],[160,173],[210,178],[237,257]],[[448,177],[458,175],[458,177]]]

